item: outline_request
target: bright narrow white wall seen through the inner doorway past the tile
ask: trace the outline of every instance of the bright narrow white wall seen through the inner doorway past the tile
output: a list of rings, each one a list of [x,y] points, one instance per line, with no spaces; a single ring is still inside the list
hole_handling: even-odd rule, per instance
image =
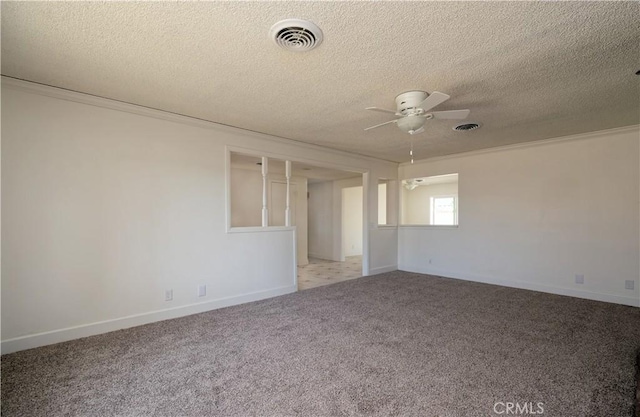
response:
[[[342,254],[362,255],[362,186],[342,189]]]

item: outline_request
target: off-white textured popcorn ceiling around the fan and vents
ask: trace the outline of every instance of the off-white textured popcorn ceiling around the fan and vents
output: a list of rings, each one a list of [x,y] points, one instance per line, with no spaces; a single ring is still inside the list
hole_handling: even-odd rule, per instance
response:
[[[2,2],[2,74],[407,161],[390,118],[442,91],[481,129],[431,120],[416,158],[640,123],[638,2]],[[324,32],[307,53],[271,25]]]

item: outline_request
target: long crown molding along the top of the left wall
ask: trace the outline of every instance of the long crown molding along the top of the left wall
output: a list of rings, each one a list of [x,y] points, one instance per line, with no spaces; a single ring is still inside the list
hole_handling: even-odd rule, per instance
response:
[[[397,162],[388,161],[384,159],[374,158],[367,155],[361,155],[354,152],[346,152],[338,149],[328,148],[321,145],[315,145],[307,142],[297,141],[294,139],[284,138],[280,136],[269,135],[266,133],[256,132],[253,130],[242,129],[240,127],[225,125],[221,123],[210,122],[204,119],[198,119],[191,116],[185,116],[183,114],[171,113],[165,110],[159,110],[151,107],[140,106],[137,104],[127,103],[124,101],[118,101],[110,98],[95,96],[87,93],[81,93],[78,91],[67,90],[60,87],[54,87],[47,84],[40,84],[33,81],[21,80],[18,78],[2,75],[2,88],[13,88],[15,90],[26,91],[33,94],[42,96],[57,98],[60,100],[73,101],[76,103],[88,104],[90,106],[102,107],[110,110],[117,110],[126,113],[137,114],[139,116],[152,117],[155,119],[165,120],[174,123],[180,123],[184,125],[199,127],[203,129],[214,130],[221,133],[230,133],[234,135],[244,135],[251,138],[267,140],[280,144],[295,145],[297,147],[327,152],[334,155],[341,155],[346,157],[357,157],[358,159],[364,159],[366,161],[382,164],[393,164],[398,166]]]

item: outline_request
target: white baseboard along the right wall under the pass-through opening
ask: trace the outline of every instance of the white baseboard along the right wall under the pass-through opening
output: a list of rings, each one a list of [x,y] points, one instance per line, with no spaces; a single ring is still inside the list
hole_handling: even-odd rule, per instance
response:
[[[428,268],[416,265],[398,265],[398,269],[406,272],[416,272],[419,274],[437,275],[446,278],[462,279],[465,281],[482,282],[485,284],[501,285],[503,287],[520,288],[523,290],[532,290],[546,292],[557,295],[567,295],[576,298],[585,298],[587,300],[604,301],[606,303],[623,304],[632,307],[640,307],[640,298],[633,296],[623,296],[616,294],[597,293],[592,291],[579,290],[574,288],[557,287],[555,285],[524,282],[515,280],[506,280],[500,278],[487,277],[483,275],[459,273],[452,271],[443,271],[435,268]]]

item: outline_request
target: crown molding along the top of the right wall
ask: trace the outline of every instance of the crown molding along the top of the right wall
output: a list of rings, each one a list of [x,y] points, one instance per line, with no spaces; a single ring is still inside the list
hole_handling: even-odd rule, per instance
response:
[[[478,156],[478,155],[484,155],[484,154],[490,154],[490,153],[512,151],[517,149],[535,148],[538,146],[557,145],[560,143],[573,142],[577,140],[595,139],[605,135],[612,136],[612,135],[622,135],[626,133],[637,133],[638,135],[640,135],[640,125],[615,127],[612,129],[596,130],[593,132],[578,133],[578,134],[569,135],[569,136],[559,136],[559,137],[549,138],[549,139],[514,143],[511,145],[495,146],[493,148],[478,149],[475,151],[462,152],[462,153],[456,153],[451,155],[434,156],[432,158],[424,158],[424,159],[414,161],[413,164],[411,164],[411,162],[402,162],[399,164],[399,167],[403,168],[406,166],[417,165],[420,163],[438,162],[438,161],[444,161],[448,159],[465,158],[465,157]]]

